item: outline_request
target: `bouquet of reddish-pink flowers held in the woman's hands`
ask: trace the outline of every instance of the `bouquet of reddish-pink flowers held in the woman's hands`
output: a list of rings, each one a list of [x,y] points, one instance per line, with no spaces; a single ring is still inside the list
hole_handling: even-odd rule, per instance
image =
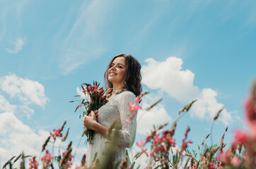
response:
[[[83,87],[83,85],[86,85],[86,87]],[[98,110],[101,106],[107,103],[107,98],[111,95],[112,89],[104,90],[103,87],[99,88],[99,86],[100,83],[97,81],[93,81],[93,85],[87,83],[83,83],[81,85],[83,89],[82,92],[86,97],[81,101],[81,104],[78,104],[76,110],[83,105],[83,116],[89,115],[91,111]],[[86,139],[86,143],[92,143],[94,134],[95,131],[88,130],[88,138]]]

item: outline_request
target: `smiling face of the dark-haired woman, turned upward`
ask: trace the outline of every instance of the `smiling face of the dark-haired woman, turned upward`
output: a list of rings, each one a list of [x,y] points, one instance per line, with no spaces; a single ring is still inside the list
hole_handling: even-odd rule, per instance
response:
[[[122,85],[127,74],[126,66],[125,58],[122,56],[115,58],[112,62],[108,70],[108,80],[112,82],[113,85]]]

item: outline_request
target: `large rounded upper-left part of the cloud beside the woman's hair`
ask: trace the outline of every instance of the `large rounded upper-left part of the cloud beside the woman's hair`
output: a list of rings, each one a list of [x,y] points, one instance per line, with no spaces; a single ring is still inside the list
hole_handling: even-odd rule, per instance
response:
[[[141,69],[142,83],[151,89],[162,89],[178,101],[187,102],[199,95],[199,88],[193,85],[194,73],[182,69],[182,59],[169,57],[158,62],[147,58]]]

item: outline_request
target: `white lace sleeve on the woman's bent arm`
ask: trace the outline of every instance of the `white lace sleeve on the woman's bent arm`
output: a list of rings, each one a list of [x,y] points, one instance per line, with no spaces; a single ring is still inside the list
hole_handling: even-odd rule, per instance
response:
[[[132,123],[127,123],[126,120],[129,119],[129,102],[133,102],[135,95],[132,92],[122,92],[120,96],[120,101],[117,104],[117,109],[120,112],[120,120],[122,128],[118,130],[118,146],[131,147],[134,144],[136,135],[136,116]]]

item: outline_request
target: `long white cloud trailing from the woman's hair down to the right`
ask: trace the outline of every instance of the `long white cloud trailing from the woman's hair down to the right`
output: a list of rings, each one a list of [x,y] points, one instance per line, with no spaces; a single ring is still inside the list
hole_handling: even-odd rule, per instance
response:
[[[146,65],[141,68],[142,83],[150,89],[161,89],[182,104],[197,99],[190,115],[202,119],[213,118],[223,107],[217,101],[217,93],[213,89],[199,89],[194,85],[194,73],[182,70],[181,58],[169,57],[162,62],[147,58],[145,62]],[[224,109],[219,120],[227,125],[231,122],[231,113]]]

